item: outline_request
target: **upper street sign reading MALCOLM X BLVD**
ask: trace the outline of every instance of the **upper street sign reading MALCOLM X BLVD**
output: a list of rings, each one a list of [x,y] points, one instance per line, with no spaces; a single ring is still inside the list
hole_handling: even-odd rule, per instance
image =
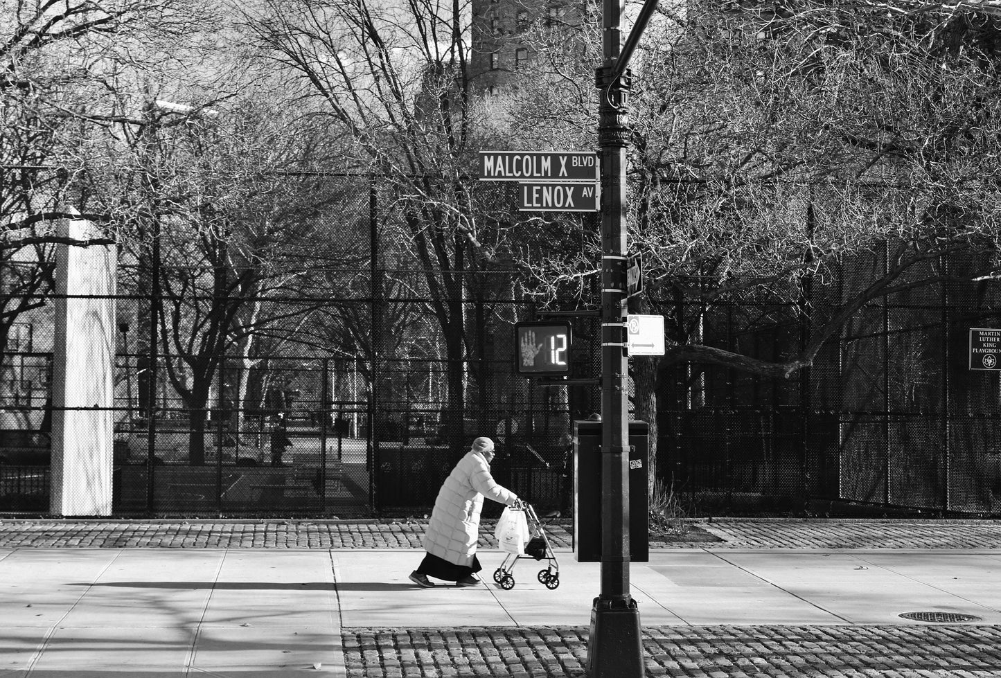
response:
[[[598,182],[598,154],[562,151],[480,151],[483,181]]]

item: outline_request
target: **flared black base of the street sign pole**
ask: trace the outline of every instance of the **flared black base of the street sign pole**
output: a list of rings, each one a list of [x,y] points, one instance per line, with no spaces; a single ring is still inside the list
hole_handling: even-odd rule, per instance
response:
[[[588,635],[590,678],[643,678],[640,608],[631,597],[595,598]]]

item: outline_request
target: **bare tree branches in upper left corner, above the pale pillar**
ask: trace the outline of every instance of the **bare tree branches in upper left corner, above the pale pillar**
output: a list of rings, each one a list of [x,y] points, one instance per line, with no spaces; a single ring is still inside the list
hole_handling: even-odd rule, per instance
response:
[[[0,348],[17,317],[52,289],[52,245],[109,244],[116,222],[94,211],[83,162],[94,139],[127,116],[120,90],[128,71],[164,73],[198,33],[204,11],[190,0],[0,2]],[[61,237],[55,224],[75,207],[103,232]]]

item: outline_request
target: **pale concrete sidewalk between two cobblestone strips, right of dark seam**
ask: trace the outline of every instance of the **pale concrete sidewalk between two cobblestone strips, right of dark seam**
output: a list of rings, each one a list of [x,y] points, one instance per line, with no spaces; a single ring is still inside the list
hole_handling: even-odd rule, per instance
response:
[[[415,589],[418,554],[333,554],[345,627],[587,625],[600,566],[557,553],[560,586],[537,575],[546,561],[520,559],[515,587],[491,581],[504,554],[483,553],[488,586]],[[489,563],[489,565],[487,565]],[[492,566],[492,567],[491,567]],[[913,624],[907,612],[969,614],[1001,624],[1001,551],[672,551],[631,566],[644,624]]]

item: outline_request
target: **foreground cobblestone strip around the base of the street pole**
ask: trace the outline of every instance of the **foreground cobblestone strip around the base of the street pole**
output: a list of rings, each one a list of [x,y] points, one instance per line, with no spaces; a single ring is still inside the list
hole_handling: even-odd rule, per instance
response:
[[[348,678],[584,676],[587,627],[344,629]],[[997,678],[997,626],[657,626],[647,676]]]

